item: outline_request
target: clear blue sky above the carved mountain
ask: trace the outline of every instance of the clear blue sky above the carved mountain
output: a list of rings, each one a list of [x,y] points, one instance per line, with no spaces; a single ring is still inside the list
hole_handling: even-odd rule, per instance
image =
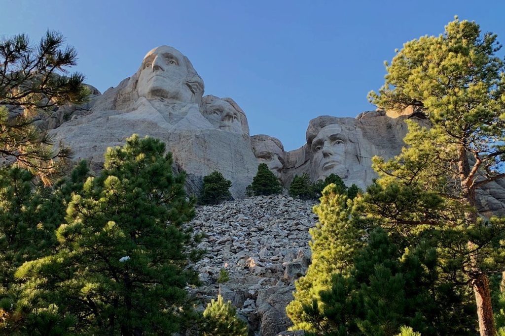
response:
[[[135,73],[150,49],[179,49],[206,94],[232,97],[250,133],[305,143],[318,115],[375,109],[383,61],[458,15],[505,44],[505,1],[0,0],[0,34],[37,41],[58,30],[79,54],[74,68],[104,92]],[[503,55],[503,51],[501,52]]]

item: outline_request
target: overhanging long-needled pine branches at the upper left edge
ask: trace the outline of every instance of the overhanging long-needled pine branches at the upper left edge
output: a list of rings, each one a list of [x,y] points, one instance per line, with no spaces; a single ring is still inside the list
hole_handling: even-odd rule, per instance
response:
[[[49,137],[33,121],[38,113],[56,105],[86,100],[83,75],[61,76],[76,61],[76,51],[64,46],[64,38],[57,32],[47,31],[37,47],[24,34],[0,40],[0,153],[15,158],[20,167],[46,184],[57,176],[70,151],[60,148],[54,152]],[[22,113],[9,116],[2,105],[20,107]]]

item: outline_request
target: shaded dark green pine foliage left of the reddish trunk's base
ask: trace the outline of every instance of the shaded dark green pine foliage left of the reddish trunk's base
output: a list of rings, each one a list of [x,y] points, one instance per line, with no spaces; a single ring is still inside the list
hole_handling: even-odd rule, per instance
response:
[[[314,334],[324,335],[393,336],[402,325],[423,335],[471,335],[467,293],[439,282],[438,263],[436,250],[426,243],[402,251],[385,231],[373,231],[351,275],[334,275],[320,302],[305,307],[304,319]]]

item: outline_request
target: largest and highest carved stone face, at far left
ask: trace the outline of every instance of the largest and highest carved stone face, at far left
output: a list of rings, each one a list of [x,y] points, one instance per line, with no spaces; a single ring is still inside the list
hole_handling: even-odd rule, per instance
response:
[[[203,81],[183,54],[163,45],[145,55],[138,75],[137,91],[140,97],[145,98],[196,102],[203,93]]]

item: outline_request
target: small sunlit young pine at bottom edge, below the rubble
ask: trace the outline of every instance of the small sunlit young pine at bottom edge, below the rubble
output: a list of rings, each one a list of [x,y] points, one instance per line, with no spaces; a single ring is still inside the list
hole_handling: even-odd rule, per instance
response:
[[[204,336],[247,336],[247,325],[237,317],[231,301],[225,303],[221,295],[207,304],[204,318]]]

